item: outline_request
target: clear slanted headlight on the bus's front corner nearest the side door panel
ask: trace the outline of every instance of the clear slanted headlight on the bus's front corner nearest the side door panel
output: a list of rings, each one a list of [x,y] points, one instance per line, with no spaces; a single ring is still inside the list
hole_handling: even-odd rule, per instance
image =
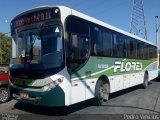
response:
[[[51,83],[43,86],[43,87],[41,88],[41,90],[42,90],[42,91],[49,91],[49,90],[55,88],[55,87],[56,87],[57,85],[59,85],[60,83],[62,83],[62,82],[63,82],[63,79],[64,79],[63,77],[58,78],[57,80],[55,80],[55,81],[53,81],[53,82],[51,82]]]

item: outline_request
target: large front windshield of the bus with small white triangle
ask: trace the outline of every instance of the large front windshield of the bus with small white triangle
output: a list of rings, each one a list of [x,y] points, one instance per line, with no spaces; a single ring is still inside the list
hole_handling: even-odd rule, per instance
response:
[[[63,64],[59,25],[23,30],[12,35],[11,68],[51,69]]]

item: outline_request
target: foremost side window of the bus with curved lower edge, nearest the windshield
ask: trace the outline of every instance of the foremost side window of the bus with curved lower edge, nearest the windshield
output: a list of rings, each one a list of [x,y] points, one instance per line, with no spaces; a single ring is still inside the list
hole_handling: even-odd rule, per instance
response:
[[[71,34],[69,44],[69,68],[71,71],[78,69],[85,63],[89,56],[89,37]]]

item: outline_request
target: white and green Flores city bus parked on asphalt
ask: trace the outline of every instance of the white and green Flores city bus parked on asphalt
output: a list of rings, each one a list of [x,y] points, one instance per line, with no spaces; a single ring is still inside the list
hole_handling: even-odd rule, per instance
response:
[[[14,99],[69,106],[158,76],[157,47],[65,6],[41,6],[11,21],[10,87]]]

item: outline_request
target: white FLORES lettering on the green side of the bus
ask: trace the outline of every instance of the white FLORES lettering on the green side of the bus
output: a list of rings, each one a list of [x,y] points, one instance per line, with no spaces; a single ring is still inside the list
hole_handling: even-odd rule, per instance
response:
[[[114,72],[117,72],[117,70],[120,70],[120,72],[128,72],[130,70],[142,70],[142,63],[140,62],[122,62],[122,61],[116,61],[114,64]]]

